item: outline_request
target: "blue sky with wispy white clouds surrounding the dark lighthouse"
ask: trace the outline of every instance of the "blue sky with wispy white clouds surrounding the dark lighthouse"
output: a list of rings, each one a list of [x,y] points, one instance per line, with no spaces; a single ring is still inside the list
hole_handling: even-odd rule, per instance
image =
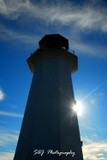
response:
[[[106,0],[0,0],[0,160],[12,160],[32,80],[26,59],[45,35],[69,39],[84,160],[107,159]]]

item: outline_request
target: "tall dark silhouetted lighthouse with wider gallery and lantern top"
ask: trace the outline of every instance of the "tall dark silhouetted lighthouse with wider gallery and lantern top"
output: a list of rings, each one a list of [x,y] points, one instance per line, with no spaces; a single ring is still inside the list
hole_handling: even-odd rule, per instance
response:
[[[45,35],[27,60],[33,80],[14,160],[83,160],[71,73],[78,58],[68,40]]]

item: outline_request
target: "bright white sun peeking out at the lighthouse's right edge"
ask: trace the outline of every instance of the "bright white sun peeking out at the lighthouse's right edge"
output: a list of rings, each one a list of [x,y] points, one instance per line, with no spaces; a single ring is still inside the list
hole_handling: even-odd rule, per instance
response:
[[[73,105],[73,111],[76,112],[78,116],[82,116],[84,111],[83,103],[77,101],[76,104]]]

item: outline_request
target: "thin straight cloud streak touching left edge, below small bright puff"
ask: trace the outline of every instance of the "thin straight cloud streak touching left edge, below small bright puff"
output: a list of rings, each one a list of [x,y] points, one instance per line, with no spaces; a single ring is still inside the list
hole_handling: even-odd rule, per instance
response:
[[[14,113],[14,112],[5,112],[5,111],[0,111],[1,116],[8,116],[8,117],[14,117],[14,118],[22,118],[23,115],[19,113]]]

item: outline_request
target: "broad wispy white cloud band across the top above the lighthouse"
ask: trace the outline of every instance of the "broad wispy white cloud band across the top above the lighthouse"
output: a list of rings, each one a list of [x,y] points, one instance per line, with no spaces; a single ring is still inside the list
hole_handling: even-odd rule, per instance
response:
[[[46,3],[45,3],[46,2]],[[0,14],[9,19],[18,19],[21,15],[26,14],[34,19],[39,18],[50,23],[60,23],[62,25],[74,25],[78,29],[101,30],[107,32],[106,8],[99,5],[83,4],[82,6],[74,5],[72,2],[50,3],[47,1],[40,3],[31,3],[25,1],[0,1]]]

